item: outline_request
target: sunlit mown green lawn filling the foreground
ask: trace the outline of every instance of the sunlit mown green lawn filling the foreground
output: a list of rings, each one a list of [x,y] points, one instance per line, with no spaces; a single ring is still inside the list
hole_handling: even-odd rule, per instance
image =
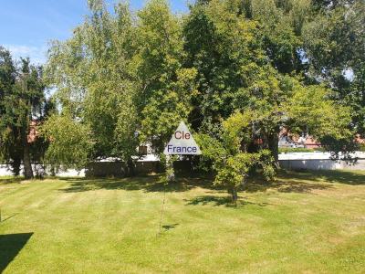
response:
[[[203,179],[0,179],[0,272],[360,273],[365,173],[283,173],[238,207]]]

